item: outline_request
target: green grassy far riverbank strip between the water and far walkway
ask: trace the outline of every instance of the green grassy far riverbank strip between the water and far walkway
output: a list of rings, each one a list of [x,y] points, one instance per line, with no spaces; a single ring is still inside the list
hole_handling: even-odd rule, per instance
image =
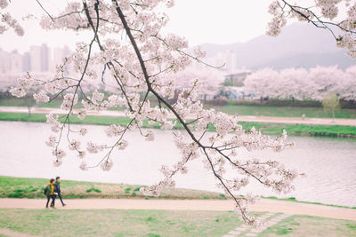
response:
[[[25,113],[1,113],[0,121],[17,121],[17,122],[45,122],[44,114]],[[70,122],[77,124],[94,124],[109,125],[120,124],[125,126],[130,119],[127,117],[114,116],[94,116],[88,115],[84,120],[79,120],[77,116],[70,116]],[[283,122],[239,122],[245,130],[255,127],[261,130],[263,134],[280,135],[283,130],[287,130],[289,135],[295,136],[319,136],[319,137],[336,137],[336,138],[356,138],[356,126],[343,125],[315,125],[315,124],[291,124]],[[150,125],[147,121],[143,122],[143,127],[158,129],[158,124]],[[174,129],[182,129],[182,124],[177,123]],[[209,129],[214,131],[213,128]]]

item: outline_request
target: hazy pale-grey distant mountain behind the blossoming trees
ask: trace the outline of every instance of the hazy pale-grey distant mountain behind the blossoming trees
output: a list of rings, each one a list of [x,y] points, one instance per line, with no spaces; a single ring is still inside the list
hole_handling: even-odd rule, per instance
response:
[[[259,69],[273,67],[316,67],[338,65],[340,68],[356,65],[356,59],[345,55],[336,47],[331,34],[310,24],[295,23],[283,28],[277,37],[258,36],[247,43],[200,45],[207,57],[219,52],[233,51],[237,54],[237,67]]]

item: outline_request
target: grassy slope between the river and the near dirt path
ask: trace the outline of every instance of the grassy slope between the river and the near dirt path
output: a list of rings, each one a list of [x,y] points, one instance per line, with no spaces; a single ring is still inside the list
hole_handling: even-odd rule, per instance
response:
[[[48,179],[45,178],[0,176],[0,198],[44,198],[43,188],[47,183]],[[61,182],[65,198],[144,198],[145,196],[139,191],[140,187],[70,180]],[[183,188],[166,188],[160,198],[225,199],[225,195]]]

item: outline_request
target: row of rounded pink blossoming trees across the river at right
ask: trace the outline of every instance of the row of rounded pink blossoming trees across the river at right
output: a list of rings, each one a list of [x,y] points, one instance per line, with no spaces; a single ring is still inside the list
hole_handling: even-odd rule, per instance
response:
[[[280,72],[263,68],[247,76],[244,91],[270,99],[316,99],[329,93],[340,99],[356,100],[356,67],[287,68]]]

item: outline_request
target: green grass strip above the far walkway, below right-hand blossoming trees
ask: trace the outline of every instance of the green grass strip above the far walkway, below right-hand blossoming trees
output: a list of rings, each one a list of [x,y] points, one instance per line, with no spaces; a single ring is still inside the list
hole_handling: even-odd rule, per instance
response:
[[[331,118],[331,113],[322,107],[261,107],[261,106],[240,106],[228,104],[224,107],[212,107],[229,115],[256,115],[256,116],[276,116],[276,117],[302,117],[307,118]],[[356,109],[339,109],[335,113],[336,118],[356,118]]]

